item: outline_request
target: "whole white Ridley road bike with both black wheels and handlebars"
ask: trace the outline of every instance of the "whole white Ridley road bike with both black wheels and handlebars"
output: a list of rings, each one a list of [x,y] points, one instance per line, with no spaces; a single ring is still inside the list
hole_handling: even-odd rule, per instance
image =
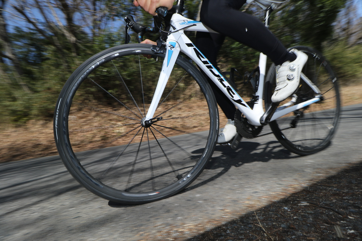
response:
[[[265,25],[280,0],[256,0],[265,9]],[[125,17],[138,42],[161,31],[157,45],[111,47],[81,64],[60,92],[54,114],[54,137],[68,171],[85,188],[113,202],[133,205],[170,197],[191,184],[209,162],[219,132],[219,113],[204,72],[236,106],[238,134],[260,135],[269,124],[289,151],[309,155],[327,147],[340,117],[337,77],[328,61],[309,47],[298,90],[281,103],[270,98],[275,66],[266,73],[266,56],[243,83],[242,98],[234,68],[223,73],[185,35],[214,32],[183,16],[177,0],[167,14],[157,9],[153,27]]]

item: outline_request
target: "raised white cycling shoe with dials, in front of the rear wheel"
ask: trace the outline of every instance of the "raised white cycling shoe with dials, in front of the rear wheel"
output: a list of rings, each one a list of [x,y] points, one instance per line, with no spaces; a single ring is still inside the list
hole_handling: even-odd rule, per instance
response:
[[[298,88],[300,81],[300,73],[302,73],[303,66],[306,64],[308,56],[292,49],[290,52],[296,55],[296,59],[292,62],[286,61],[282,65],[275,67],[277,75],[277,86],[275,87],[274,94],[271,96],[272,102],[281,102],[294,94]]]

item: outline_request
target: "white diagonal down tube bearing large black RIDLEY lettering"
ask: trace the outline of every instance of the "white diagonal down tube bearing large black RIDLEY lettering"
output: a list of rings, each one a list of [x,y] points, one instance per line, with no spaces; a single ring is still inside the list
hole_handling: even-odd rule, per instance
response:
[[[180,43],[181,51],[189,56],[195,63],[209,76],[220,90],[235,104],[235,106],[248,117],[250,124],[260,126],[260,117],[262,113],[256,113],[249,105],[240,97],[227,80],[219,73],[219,71],[210,63],[209,60],[194,46],[193,43],[185,36],[181,36],[184,43]]]

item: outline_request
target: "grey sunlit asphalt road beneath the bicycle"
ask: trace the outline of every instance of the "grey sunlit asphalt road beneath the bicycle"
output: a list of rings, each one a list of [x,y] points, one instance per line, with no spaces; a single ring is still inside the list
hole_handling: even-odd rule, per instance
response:
[[[311,156],[291,154],[272,134],[243,139],[236,151],[217,146],[187,190],[138,206],[109,206],[58,156],[3,163],[0,240],[183,240],[359,162],[361,120],[362,104],[343,108],[332,145]]]

